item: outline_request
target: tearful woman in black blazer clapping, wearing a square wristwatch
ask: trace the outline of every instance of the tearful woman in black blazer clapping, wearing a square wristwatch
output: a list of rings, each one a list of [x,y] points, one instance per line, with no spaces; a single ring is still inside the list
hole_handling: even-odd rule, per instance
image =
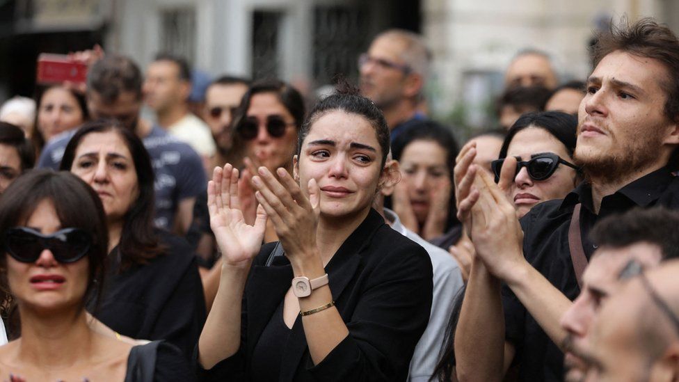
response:
[[[200,376],[406,379],[429,321],[432,270],[424,249],[371,208],[398,178],[385,167],[388,151],[381,111],[336,94],[303,125],[293,175],[257,168],[254,225],[238,205],[239,171],[215,169],[208,205],[224,260],[198,342]],[[280,241],[262,246],[267,218]]]

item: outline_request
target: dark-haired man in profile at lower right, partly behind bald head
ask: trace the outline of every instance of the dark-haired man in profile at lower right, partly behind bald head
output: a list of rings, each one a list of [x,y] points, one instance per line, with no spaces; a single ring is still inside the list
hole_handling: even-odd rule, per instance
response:
[[[582,292],[561,317],[568,332],[566,381],[581,381],[589,331],[602,303],[621,287],[623,280],[661,261],[679,257],[679,212],[662,207],[634,208],[602,219],[590,232],[599,248],[582,274]]]

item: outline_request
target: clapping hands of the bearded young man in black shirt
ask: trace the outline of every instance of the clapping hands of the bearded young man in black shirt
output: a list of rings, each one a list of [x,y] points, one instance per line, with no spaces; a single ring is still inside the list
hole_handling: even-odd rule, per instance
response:
[[[454,170],[458,219],[474,244],[474,253],[493,276],[509,280],[523,257],[523,232],[507,190],[514,180],[516,159],[505,159],[500,182],[473,164],[476,143],[467,143]],[[470,264],[471,261],[468,262]]]

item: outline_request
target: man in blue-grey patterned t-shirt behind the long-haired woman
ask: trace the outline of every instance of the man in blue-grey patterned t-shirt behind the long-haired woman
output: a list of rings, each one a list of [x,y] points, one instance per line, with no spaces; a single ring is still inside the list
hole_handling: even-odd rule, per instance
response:
[[[116,119],[142,139],[155,173],[154,223],[183,234],[191,224],[196,196],[205,191],[205,170],[189,145],[139,118],[142,83],[141,71],[130,58],[106,55],[89,67],[87,107],[93,120]],[[64,149],[76,131],[51,141],[42,150],[38,167],[58,170]]]

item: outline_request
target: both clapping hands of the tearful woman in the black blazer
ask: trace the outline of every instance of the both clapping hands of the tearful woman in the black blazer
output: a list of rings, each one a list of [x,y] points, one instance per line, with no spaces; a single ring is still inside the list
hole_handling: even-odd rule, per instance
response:
[[[320,199],[316,180],[308,182],[307,198],[284,168],[278,168],[274,175],[264,166],[254,168],[249,160],[246,166],[245,171],[250,174],[241,179],[240,184],[239,170],[231,164],[215,168],[207,184],[210,226],[225,264],[249,266],[262,246],[267,218],[271,219],[285,255],[291,261],[315,255]],[[246,221],[239,198],[239,191],[248,186],[256,190],[254,196],[258,203],[252,223]]]

